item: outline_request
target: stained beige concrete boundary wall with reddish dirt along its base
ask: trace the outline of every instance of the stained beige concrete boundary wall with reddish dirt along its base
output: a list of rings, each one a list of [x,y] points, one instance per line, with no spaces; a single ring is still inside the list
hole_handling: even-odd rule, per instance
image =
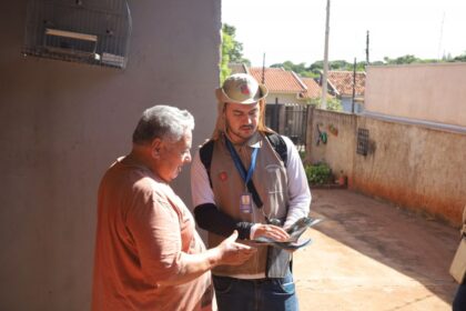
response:
[[[453,225],[460,223],[466,205],[466,134],[317,109],[310,113],[308,124],[308,162],[325,161],[335,173],[343,170],[350,189]],[[316,124],[327,133],[326,144],[316,144]],[[356,153],[358,128],[369,132],[367,156]]]

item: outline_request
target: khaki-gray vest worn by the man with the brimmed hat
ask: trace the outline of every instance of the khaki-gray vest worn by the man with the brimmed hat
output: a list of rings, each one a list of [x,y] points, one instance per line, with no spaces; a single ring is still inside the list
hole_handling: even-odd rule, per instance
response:
[[[265,217],[285,220],[288,204],[286,169],[269,140],[259,132],[243,146],[235,146],[241,161],[247,170],[253,148],[257,144],[256,165],[252,177],[255,189],[263,202],[259,209],[253,204],[252,213],[240,211],[240,198],[245,192],[245,183],[236,170],[226,148],[224,137],[214,142],[211,179],[216,207],[230,217],[249,222],[266,223]],[[209,232],[209,245],[216,247],[225,238]],[[241,241],[251,244],[249,241]],[[283,278],[290,263],[286,251],[272,247],[257,247],[257,252],[242,265],[220,265],[212,272],[215,275],[266,273],[270,278]]]

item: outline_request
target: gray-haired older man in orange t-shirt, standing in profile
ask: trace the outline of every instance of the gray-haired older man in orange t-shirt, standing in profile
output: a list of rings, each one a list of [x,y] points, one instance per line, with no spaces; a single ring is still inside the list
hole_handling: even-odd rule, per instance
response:
[[[99,188],[92,310],[212,310],[210,270],[241,264],[255,250],[234,232],[205,250],[170,182],[191,161],[194,119],[185,110],[145,110],[131,152]]]

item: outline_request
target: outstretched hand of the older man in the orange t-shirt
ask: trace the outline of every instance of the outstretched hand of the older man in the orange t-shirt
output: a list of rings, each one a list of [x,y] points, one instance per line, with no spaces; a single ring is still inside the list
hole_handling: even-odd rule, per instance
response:
[[[219,251],[219,264],[239,265],[250,259],[257,250],[242,244],[236,243],[237,231],[235,230],[229,238],[223,240],[222,243],[216,247]]]

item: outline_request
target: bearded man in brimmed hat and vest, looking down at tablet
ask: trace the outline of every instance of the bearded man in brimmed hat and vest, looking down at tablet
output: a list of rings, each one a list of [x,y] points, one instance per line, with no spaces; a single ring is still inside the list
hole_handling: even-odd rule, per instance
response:
[[[307,217],[311,192],[298,152],[265,127],[267,89],[253,77],[233,74],[215,94],[213,137],[191,167],[194,215],[209,247],[237,230],[239,241],[257,248],[245,263],[212,271],[219,309],[297,310],[291,253],[252,240],[286,240],[285,229]]]

